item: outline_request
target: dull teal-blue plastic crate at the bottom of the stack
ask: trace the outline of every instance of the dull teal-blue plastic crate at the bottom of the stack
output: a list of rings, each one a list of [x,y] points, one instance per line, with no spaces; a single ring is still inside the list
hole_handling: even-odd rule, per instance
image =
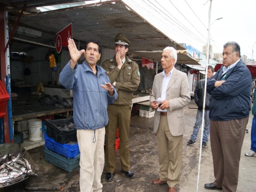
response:
[[[72,172],[73,169],[79,166],[80,163],[80,154],[78,154],[75,158],[70,159],[66,157],[62,157],[61,155],[47,149],[44,147],[45,152],[45,160],[52,165],[55,165],[61,169],[64,169],[67,172]]]

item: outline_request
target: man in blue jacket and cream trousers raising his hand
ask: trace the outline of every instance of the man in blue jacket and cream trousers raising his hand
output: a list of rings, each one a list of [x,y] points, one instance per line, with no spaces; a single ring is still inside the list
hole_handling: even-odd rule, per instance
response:
[[[105,126],[108,104],[117,99],[106,71],[96,65],[101,56],[99,41],[87,40],[85,50],[78,50],[73,39],[68,41],[71,60],[61,71],[60,83],[73,90],[73,119],[80,150],[81,192],[102,192]],[[77,61],[84,53],[85,61]]]

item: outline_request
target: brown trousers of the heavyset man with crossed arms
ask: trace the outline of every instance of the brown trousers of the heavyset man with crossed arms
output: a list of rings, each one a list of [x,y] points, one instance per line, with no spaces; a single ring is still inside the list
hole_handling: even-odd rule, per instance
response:
[[[239,162],[244,134],[249,117],[230,121],[210,121],[210,139],[214,186],[223,192],[236,192]]]

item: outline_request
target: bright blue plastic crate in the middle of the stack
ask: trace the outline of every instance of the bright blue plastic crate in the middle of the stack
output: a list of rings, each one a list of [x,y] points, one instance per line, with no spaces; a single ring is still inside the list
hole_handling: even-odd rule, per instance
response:
[[[46,133],[44,133],[44,143],[48,149],[67,158],[73,158],[80,154],[78,143],[75,145],[60,144],[48,137]]]

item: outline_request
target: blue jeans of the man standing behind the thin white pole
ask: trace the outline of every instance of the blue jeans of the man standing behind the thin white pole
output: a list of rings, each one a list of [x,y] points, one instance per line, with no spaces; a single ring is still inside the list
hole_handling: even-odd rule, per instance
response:
[[[195,120],[193,133],[190,138],[193,141],[195,141],[197,139],[198,132],[199,132],[200,126],[202,124],[202,116],[203,116],[203,111],[198,109],[198,112],[196,114],[196,120]],[[208,110],[208,111],[204,111],[204,133],[203,133],[203,141],[204,142],[208,141],[209,134],[210,134],[210,119],[209,119],[209,110]]]

